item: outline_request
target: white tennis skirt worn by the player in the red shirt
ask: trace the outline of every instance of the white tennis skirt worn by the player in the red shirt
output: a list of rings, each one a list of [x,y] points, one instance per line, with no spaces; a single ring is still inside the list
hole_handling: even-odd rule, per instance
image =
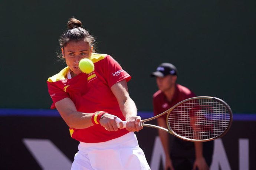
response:
[[[134,132],[99,143],[78,145],[71,170],[150,170]]]

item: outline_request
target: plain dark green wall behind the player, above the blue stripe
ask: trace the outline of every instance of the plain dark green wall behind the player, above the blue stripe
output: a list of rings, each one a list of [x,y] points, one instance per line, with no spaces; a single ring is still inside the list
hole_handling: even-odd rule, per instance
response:
[[[48,109],[46,80],[65,67],[58,39],[75,16],[131,76],[140,111],[152,110],[150,73],[173,63],[178,83],[256,113],[255,0],[0,1],[0,108]]]

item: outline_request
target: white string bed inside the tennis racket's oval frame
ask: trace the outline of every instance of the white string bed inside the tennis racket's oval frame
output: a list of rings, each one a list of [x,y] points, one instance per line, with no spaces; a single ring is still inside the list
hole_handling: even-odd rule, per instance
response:
[[[214,99],[193,99],[169,113],[168,125],[176,135],[194,140],[220,136],[229,126],[226,105]]]

